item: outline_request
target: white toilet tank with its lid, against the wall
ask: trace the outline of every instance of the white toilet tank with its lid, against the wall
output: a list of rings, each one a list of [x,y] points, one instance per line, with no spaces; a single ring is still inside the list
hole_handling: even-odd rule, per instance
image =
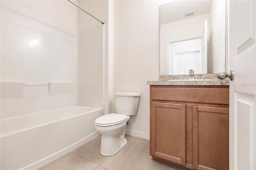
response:
[[[140,93],[114,93],[116,113],[128,116],[136,115],[139,105],[139,99]]]

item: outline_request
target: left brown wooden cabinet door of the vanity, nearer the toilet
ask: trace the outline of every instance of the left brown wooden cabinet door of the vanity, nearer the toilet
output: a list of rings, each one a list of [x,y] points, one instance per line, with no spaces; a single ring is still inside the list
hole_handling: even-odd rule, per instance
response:
[[[150,155],[186,164],[186,106],[151,103]]]

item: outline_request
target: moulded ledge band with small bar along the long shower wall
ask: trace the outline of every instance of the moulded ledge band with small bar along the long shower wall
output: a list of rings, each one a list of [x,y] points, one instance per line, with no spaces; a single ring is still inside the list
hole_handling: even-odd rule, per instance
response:
[[[1,99],[74,93],[75,82],[1,82]]]

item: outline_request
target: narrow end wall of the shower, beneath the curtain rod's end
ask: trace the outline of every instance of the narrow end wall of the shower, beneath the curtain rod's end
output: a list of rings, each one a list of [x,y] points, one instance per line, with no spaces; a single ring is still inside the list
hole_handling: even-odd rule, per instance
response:
[[[97,17],[104,14],[107,4],[79,1],[80,6]],[[104,107],[104,25],[82,11],[78,11],[77,52],[78,105]]]

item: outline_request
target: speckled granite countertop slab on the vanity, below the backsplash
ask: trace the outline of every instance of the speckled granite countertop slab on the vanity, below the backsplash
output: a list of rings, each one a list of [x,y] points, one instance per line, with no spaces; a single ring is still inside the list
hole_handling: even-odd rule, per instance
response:
[[[214,81],[147,81],[147,85],[229,85],[229,80]]]

